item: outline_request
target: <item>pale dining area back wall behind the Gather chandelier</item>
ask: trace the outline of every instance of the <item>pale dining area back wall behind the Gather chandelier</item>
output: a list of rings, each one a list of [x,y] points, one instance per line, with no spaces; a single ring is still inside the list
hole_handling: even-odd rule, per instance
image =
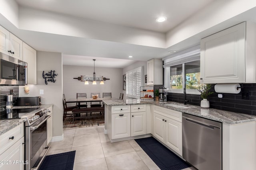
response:
[[[86,93],[87,97],[90,97],[91,92],[100,93],[100,97],[102,97],[102,92],[111,92],[113,98],[119,98],[122,93],[122,68],[97,67],[95,63],[95,73],[96,76],[103,76],[110,80],[106,80],[104,85],[100,85],[100,82],[96,85],[92,85],[92,82],[84,85],[84,82],[74,78],[81,75],[93,76],[93,66],[63,65],[63,94],[66,100],[76,98],[76,93]]]

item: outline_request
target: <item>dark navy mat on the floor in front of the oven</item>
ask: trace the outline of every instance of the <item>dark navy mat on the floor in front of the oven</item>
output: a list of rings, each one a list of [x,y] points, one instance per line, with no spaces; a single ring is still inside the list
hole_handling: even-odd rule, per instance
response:
[[[73,170],[76,150],[45,157],[39,170]]]

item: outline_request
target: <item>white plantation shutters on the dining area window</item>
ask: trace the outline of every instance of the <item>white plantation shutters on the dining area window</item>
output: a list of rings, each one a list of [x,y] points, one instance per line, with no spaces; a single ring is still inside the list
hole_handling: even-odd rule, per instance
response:
[[[142,86],[142,67],[126,72],[126,96],[139,99],[140,86]]]

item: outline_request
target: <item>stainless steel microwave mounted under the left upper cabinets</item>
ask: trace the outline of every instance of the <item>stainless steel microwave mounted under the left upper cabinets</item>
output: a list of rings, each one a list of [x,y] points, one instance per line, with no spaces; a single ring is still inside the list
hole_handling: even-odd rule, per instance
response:
[[[27,77],[27,63],[0,53],[0,85],[25,85]]]

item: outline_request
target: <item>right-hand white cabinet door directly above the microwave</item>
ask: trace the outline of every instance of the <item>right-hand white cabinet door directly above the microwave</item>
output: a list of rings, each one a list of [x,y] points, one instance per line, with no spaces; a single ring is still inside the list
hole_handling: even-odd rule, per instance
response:
[[[10,56],[22,61],[22,40],[10,33]]]

